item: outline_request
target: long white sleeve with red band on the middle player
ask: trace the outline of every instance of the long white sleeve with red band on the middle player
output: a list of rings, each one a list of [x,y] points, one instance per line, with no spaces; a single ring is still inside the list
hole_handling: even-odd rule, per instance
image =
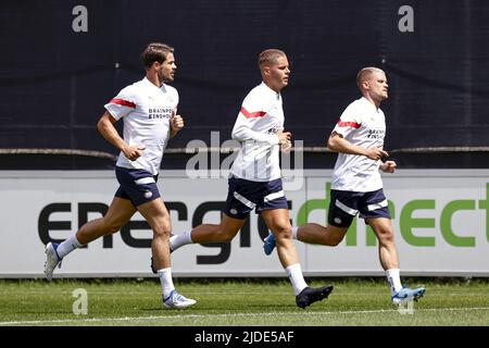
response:
[[[278,136],[276,134],[265,134],[253,129],[253,125],[266,115],[267,105],[260,102],[260,98],[254,95],[248,95],[239,110],[231,137],[234,140],[246,141],[255,140],[277,145]]]

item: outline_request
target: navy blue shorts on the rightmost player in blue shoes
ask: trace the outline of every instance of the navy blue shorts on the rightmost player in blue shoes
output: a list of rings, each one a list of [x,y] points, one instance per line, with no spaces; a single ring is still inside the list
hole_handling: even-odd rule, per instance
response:
[[[336,227],[349,227],[353,217],[387,217],[390,219],[389,207],[384,190],[372,192],[339,191],[331,189],[328,223]]]

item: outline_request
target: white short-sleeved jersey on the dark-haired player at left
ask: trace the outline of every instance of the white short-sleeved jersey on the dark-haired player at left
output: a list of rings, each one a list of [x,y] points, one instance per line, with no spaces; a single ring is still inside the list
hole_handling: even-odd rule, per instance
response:
[[[130,161],[121,151],[116,165],[156,175],[170,139],[170,119],[176,114],[177,105],[175,88],[165,84],[156,87],[146,77],[123,88],[106,103],[105,109],[115,120],[124,120],[124,141],[129,146],[146,147],[136,161]]]

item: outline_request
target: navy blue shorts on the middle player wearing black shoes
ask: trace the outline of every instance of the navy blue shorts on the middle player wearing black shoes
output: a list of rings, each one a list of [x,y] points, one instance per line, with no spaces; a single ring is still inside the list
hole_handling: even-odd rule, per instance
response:
[[[281,178],[272,182],[250,182],[230,177],[226,199],[226,215],[247,219],[253,209],[259,214],[262,210],[289,209],[281,187]]]

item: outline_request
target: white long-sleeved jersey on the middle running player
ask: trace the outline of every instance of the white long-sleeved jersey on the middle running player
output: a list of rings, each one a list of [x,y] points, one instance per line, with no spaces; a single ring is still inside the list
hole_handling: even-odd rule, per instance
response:
[[[277,132],[284,128],[281,96],[264,83],[244,98],[233,128],[233,139],[241,148],[230,172],[252,182],[280,177]]]

